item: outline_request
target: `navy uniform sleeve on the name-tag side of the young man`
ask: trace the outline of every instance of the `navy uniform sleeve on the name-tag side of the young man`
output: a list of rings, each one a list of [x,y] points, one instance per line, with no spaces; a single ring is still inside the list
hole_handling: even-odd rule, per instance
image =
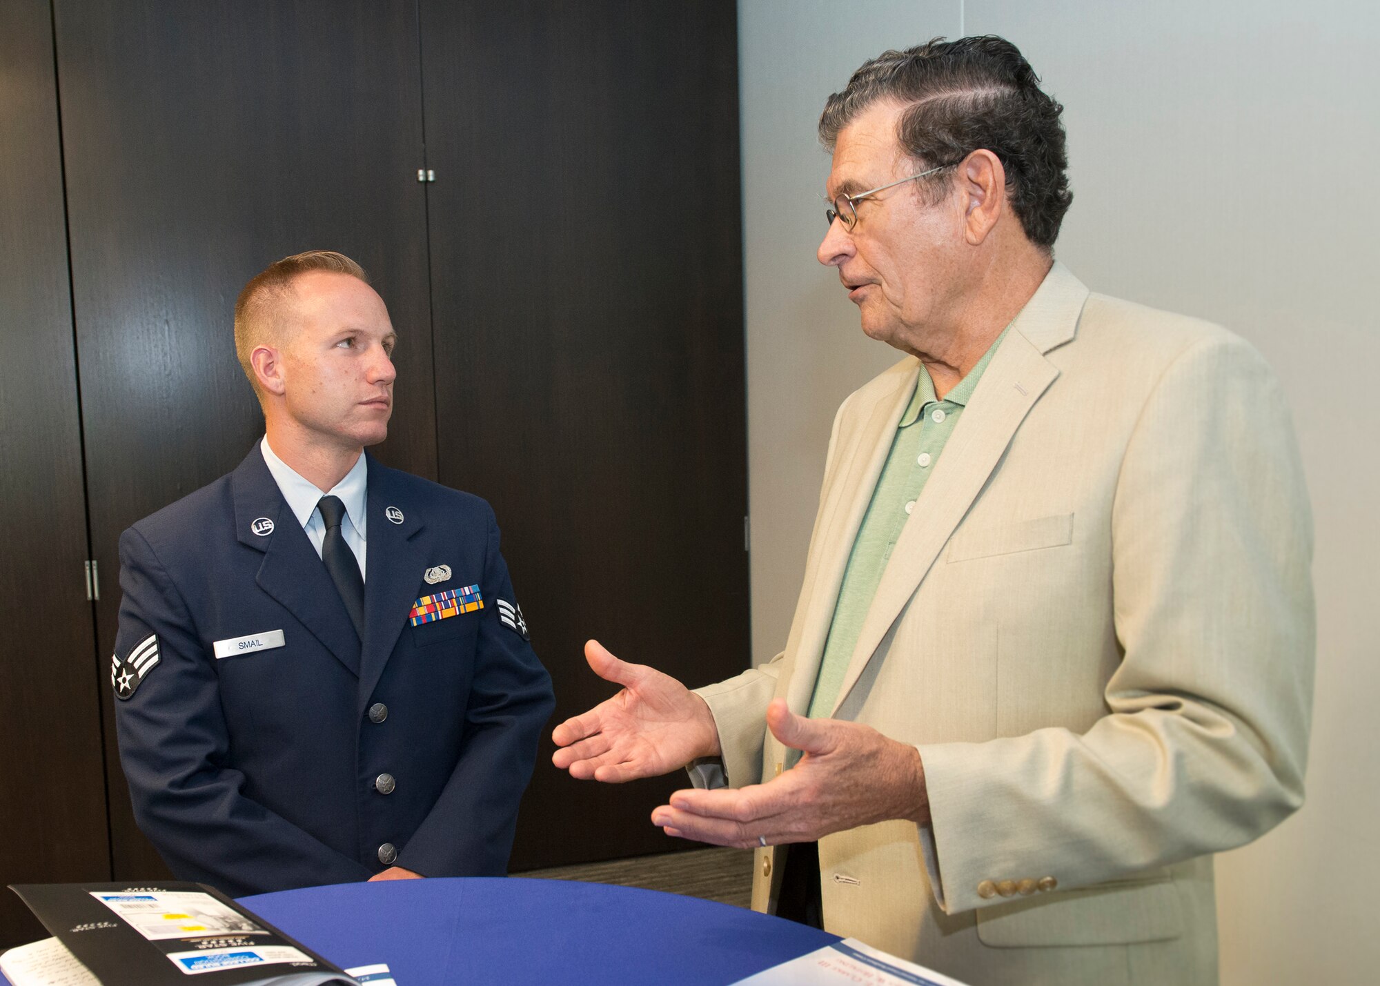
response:
[[[116,699],[120,761],[139,829],[185,878],[230,896],[367,880],[371,873],[241,794],[230,766],[215,663],[188,606],[138,530],[120,537],[116,653],[157,635],[157,666]]]

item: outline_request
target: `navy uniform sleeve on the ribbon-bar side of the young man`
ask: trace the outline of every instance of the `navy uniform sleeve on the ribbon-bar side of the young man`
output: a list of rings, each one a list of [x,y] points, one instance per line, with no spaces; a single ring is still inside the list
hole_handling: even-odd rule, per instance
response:
[[[551,675],[526,634],[500,619],[498,601],[518,605],[489,511],[484,598],[475,677],[465,708],[462,753],[397,866],[428,877],[508,874],[518,804],[537,761],[537,742],[556,707]]]

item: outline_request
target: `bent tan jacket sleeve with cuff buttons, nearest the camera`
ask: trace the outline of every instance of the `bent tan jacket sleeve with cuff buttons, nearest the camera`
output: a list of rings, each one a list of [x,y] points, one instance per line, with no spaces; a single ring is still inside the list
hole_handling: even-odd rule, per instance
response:
[[[1242,845],[1303,801],[1312,699],[1312,529],[1283,394],[1234,337],[1165,371],[1112,507],[1123,650],[1108,714],[920,746],[920,830],[948,913],[1002,903],[984,880],[1061,889]]]

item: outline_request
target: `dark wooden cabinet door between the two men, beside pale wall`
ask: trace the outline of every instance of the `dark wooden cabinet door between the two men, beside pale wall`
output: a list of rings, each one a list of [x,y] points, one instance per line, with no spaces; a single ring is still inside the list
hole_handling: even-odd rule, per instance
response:
[[[422,0],[440,479],[486,497],[553,722],[614,653],[748,667],[733,3]],[[574,782],[549,729],[512,869],[680,848],[684,776]]]

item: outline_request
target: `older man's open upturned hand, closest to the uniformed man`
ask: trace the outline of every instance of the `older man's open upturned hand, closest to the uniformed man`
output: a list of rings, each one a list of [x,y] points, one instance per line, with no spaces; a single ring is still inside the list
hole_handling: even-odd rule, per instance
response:
[[[679,681],[646,664],[621,661],[598,641],[585,644],[585,660],[622,690],[552,732],[560,750],[551,762],[571,777],[617,784],[719,753],[709,706]]]

